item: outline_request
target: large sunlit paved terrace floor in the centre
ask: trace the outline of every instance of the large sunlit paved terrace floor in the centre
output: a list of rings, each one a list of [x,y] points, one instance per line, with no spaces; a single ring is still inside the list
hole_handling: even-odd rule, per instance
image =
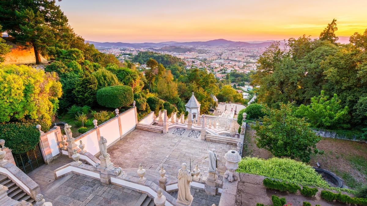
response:
[[[189,130],[183,135],[148,132],[135,129],[123,139],[117,141],[108,148],[111,161],[121,168],[137,168],[142,163],[146,169],[159,170],[164,167],[167,174],[177,176],[182,163],[186,163],[192,170],[197,164],[201,170],[201,177],[207,175],[208,151],[207,148],[215,148],[219,160],[219,179],[225,172],[224,154],[236,146],[223,143],[201,140],[200,138],[188,137]]]

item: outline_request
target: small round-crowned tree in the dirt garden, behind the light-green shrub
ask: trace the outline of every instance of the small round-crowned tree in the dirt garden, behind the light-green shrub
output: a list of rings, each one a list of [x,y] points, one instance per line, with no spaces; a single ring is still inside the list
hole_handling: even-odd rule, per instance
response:
[[[292,115],[291,104],[280,104],[280,110],[270,109],[269,115],[264,116],[262,124],[257,122],[256,145],[270,151],[276,157],[299,158],[303,162],[310,161],[312,153],[317,154],[316,148],[321,137],[316,136],[310,129],[305,118]]]

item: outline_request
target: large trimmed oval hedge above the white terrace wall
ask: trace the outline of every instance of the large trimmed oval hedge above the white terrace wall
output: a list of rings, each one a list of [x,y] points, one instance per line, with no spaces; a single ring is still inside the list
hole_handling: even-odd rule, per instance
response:
[[[97,91],[97,102],[104,107],[126,107],[133,101],[132,88],[126,85],[111,86]]]

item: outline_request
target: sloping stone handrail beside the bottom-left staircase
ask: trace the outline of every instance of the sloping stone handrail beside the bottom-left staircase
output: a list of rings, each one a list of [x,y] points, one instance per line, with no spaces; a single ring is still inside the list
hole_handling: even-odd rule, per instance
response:
[[[35,181],[9,161],[0,164],[0,173],[11,179],[33,199],[41,192],[40,186]]]

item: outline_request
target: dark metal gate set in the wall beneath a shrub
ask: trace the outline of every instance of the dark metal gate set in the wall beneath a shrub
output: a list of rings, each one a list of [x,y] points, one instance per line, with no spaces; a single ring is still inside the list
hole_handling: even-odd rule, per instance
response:
[[[15,165],[24,173],[28,173],[43,165],[45,162],[39,144],[34,150],[29,150],[23,154],[13,154]]]

